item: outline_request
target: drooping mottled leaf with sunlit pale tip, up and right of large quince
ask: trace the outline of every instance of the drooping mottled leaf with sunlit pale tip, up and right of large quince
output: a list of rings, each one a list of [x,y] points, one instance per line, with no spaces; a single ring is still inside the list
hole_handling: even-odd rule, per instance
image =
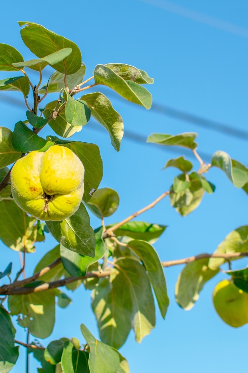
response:
[[[92,116],[109,132],[111,144],[119,151],[123,136],[123,120],[113,108],[111,101],[100,92],[86,94],[80,100],[86,101]]]

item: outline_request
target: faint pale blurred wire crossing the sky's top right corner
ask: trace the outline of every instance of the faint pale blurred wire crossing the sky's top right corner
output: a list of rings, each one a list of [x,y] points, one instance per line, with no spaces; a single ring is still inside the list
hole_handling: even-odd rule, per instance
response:
[[[207,14],[197,12],[186,8],[185,6],[177,5],[167,0],[138,0],[143,3],[150,4],[160,9],[167,10],[167,12],[177,14],[179,16],[192,19],[193,21],[204,23],[205,25],[218,28],[222,31],[229,32],[241,36],[243,38],[248,38],[248,29],[242,26],[235,25],[222,19],[210,17]]]

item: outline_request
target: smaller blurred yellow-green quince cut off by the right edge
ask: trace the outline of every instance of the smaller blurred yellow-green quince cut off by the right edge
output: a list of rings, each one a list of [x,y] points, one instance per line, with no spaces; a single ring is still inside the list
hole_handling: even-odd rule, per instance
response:
[[[222,280],[215,286],[213,304],[226,324],[239,327],[248,323],[248,293],[237,288],[232,281]]]

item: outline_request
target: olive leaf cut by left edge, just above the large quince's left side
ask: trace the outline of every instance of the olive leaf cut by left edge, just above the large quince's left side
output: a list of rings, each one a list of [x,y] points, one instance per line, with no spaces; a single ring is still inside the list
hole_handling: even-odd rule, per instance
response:
[[[0,169],[17,161],[22,153],[12,145],[13,132],[9,128],[0,127]]]

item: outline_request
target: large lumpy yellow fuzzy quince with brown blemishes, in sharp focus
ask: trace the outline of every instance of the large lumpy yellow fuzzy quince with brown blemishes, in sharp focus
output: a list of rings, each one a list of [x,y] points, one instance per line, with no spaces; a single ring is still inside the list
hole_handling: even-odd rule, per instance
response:
[[[84,194],[84,166],[70,149],[53,145],[31,151],[11,171],[16,204],[41,220],[59,221],[77,211]]]

